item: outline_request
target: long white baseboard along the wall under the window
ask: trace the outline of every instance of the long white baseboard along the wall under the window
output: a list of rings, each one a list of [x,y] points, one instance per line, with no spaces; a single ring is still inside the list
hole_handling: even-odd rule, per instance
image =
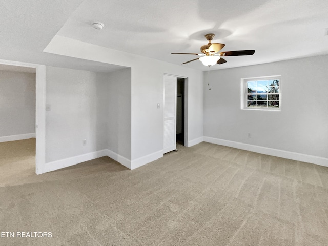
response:
[[[285,150],[278,150],[278,149],[272,149],[267,147],[261,147],[256,145],[249,145],[249,144],[243,144],[242,142],[235,142],[235,141],[229,141],[214,137],[206,137],[204,136],[205,142],[211,142],[212,144],[217,145],[223,145],[228,146],[232,148],[237,148],[241,150],[248,150],[256,153],[261,153],[265,155],[272,155],[277,156],[281,158],[291,159],[291,160],[298,160],[308,163],[313,163],[320,166],[328,167],[328,158],[314,156],[314,155],[306,155],[296,152],[290,152]]]

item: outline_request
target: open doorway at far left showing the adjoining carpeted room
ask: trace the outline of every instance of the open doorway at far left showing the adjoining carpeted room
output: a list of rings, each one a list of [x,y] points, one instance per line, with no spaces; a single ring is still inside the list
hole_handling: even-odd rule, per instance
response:
[[[36,68],[0,64],[2,183],[35,170]]]

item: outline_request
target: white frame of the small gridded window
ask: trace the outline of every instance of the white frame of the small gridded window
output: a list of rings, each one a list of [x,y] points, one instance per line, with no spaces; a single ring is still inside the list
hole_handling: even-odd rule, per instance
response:
[[[247,107],[247,82],[248,81],[261,81],[261,80],[279,80],[279,93],[272,93],[279,95],[279,107],[278,108],[264,108],[264,107]],[[264,111],[281,111],[281,75],[263,76],[263,77],[252,77],[252,78],[241,78],[241,100],[240,106],[242,110],[264,110]],[[263,95],[270,95],[271,93],[256,93]]]

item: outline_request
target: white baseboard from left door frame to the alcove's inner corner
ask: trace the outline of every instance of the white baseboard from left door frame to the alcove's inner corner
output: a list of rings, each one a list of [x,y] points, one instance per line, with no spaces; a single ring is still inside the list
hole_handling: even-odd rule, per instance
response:
[[[107,156],[107,150],[99,150],[99,151],[90,152],[90,153],[83,154],[83,155],[77,155],[77,156],[73,156],[73,157],[66,158],[66,159],[48,162],[45,165],[45,173],[55,171],[55,170],[58,170],[61,168],[67,168],[67,167],[76,165],[78,163],[88,161],[88,160],[93,160],[93,159],[100,158],[103,156]]]

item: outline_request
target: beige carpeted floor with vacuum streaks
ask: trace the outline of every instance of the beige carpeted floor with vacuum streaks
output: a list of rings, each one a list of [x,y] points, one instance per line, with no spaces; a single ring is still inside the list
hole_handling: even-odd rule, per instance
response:
[[[34,144],[0,144],[0,245],[328,245],[326,167],[202,142],[37,176]]]

